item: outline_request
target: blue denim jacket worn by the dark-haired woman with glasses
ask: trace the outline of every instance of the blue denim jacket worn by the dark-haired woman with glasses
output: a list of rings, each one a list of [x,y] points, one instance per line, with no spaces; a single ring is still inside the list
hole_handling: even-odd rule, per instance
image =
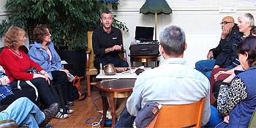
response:
[[[40,42],[34,42],[34,44],[30,45],[29,57],[37,64],[39,64],[46,72],[50,75],[50,79],[53,79],[53,76],[50,74],[51,71],[58,71],[59,69],[63,69],[63,65],[61,65],[61,58],[58,53],[54,49],[53,42],[48,42],[48,48],[52,54],[52,60],[50,61],[50,56],[47,53],[47,50],[42,48]]]

